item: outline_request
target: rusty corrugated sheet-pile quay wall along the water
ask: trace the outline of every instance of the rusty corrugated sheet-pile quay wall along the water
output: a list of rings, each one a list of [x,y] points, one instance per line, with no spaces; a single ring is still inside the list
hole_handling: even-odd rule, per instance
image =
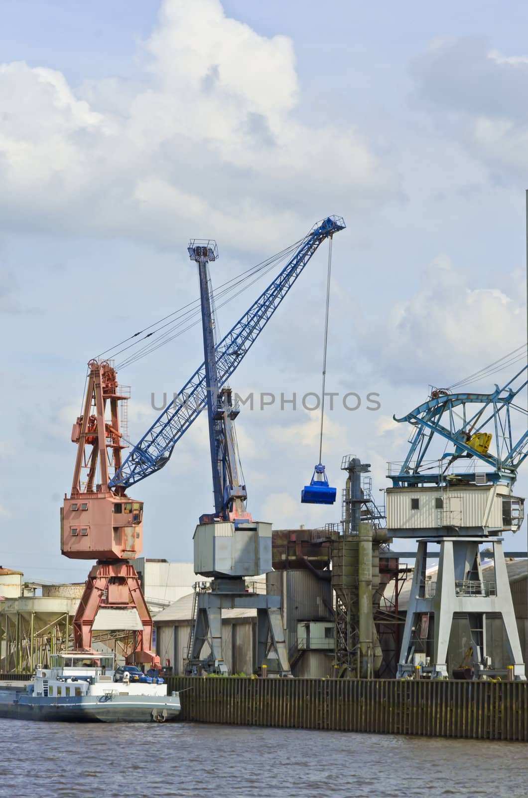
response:
[[[528,742],[528,684],[173,677],[181,719]],[[191,688],[191,689],[188,689]]]

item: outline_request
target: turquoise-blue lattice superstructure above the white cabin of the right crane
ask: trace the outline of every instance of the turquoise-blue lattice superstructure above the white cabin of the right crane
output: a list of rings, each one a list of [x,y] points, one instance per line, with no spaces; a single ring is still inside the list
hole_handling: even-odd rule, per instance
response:
[[[434,389],[428,401],[406,416],[394,416],[395,421],[408,421],[416,431],[400,471],[389,475],[393,486],[445,484],[452,479],[447,476],[451,463],[464,457],[476,457],[486,465],[487,482],[502,482],[511,487],[518,467],[528,456],[526,410],[514,401],[528,385],[527,370],[528,366],[524,366],[502,388],[495,385],[491,393],[450,393],[446,389]],[[522,427],[515,423],[514,413],[524,416]],[[452,444],[439,458],[440,462],[445,462],[441,468],[435,468],[432,460],[425,460],[435,435]],[[475,473],[465,472],[459,479],[475,481]]]

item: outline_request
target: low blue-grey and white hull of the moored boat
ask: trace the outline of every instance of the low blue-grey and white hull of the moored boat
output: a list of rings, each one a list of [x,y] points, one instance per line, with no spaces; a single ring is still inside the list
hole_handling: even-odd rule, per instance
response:
[[[170,723],[180,713],[179,696],[46,697],[0,694],[0,717],[70,723]]]

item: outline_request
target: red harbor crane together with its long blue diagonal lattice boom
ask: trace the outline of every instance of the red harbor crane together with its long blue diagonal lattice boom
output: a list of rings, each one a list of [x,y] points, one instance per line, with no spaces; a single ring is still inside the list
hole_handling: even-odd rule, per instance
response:
[[[250,523],[250,516],[247,513],[244,515],[246,511],[243,509],[245,489],[238,484],[231,440],[228,440],[231,429],[229,422],[233,421],[237,410],[230,390],[227,387],[224,390],[224,386],[317,248],[344,228],[345,222],[340,216],[329,216],[315,224],[294,245],[294,255],[222,341],[213,346],[208,340],[209,362],[206,362],[207,358],[204,359],[125,459],[123,450],[127,448],[127,440],[121,425],[123,417],[126,417],[129,391],[118,384],[116,369],[111,361],[97,358],[89,362],[83,413],[73,425],[72,440],[77,444],[73,484],[61,508],[62,554],[71,559],[97,560],[90,571],[73,622],[76,649],[91,649],[97,616],[97,628],[100,630],[125,628],[135,634],[132,651],[128,655],[129,662],[159,664],[152,646],[152,618],[132,564],[143,548],[143,502],[132,499],[128,492],[136,482],[164,468],[175,444],[205,407],[211,408],[208,412],[210,418],[213,414],[214,430],[219,430],[222,425],[223,431],[227,430],[228,433],[220,460],[216,454],[213,456],[212,440],[215,433],[211,433],[215,483],[212,523],[215,524],[216,519],[219,519],[234,526],[236,522],[237,529]],[[203,309],[202,298],[205,324]],[[215,377],[211,369],[215,369]],[[214,385],[211,382],[213,378]],[[221,407],[211,405],[213,391],[208,388],[213,387],[217,391],[216,401],[221,401]],[[218,440],[215,437],[215,447]],[[202,520],[207,522],[208,519],[204,517]],[[207,527],[207,523],[203,526]],[[270,530],[271,527],[269,545]],[[266,531],[264,527],[262,531]],[[200,536],[200,533],[195,533],[195,551]],[[266,535],[261,537],[266,549],[263,539]],[[237,535],[236,541],[241,538],[242,535]],[[262,557],[257,563],[262,568],[258,573],[264,572],[262,566],[266,563],[267,559]],[[206,563],[202,563],[197,572],[213,571],[214,564],[208,568]],[[270,606],[269,609],[273,610],[274,607]],[[267,609],[263,611],[267,614]],[[119,626],[119,623],[124,626]],[[209,628],[211,630],[211,625]],[[265,624],[262,625],[264,628]],[[221,661],[222,658],[218,656],[216,659]]]

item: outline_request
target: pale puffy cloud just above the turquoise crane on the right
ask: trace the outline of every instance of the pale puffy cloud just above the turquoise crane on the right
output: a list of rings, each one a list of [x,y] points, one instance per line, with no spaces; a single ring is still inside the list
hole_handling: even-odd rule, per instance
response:
[[[423,285],[392,306],[364,347],[393,385],[445,387],[520,346],[524,313],[520,275],[504,275],[501,289],[473,288],[467,273],[441,255],[424,270]]]

